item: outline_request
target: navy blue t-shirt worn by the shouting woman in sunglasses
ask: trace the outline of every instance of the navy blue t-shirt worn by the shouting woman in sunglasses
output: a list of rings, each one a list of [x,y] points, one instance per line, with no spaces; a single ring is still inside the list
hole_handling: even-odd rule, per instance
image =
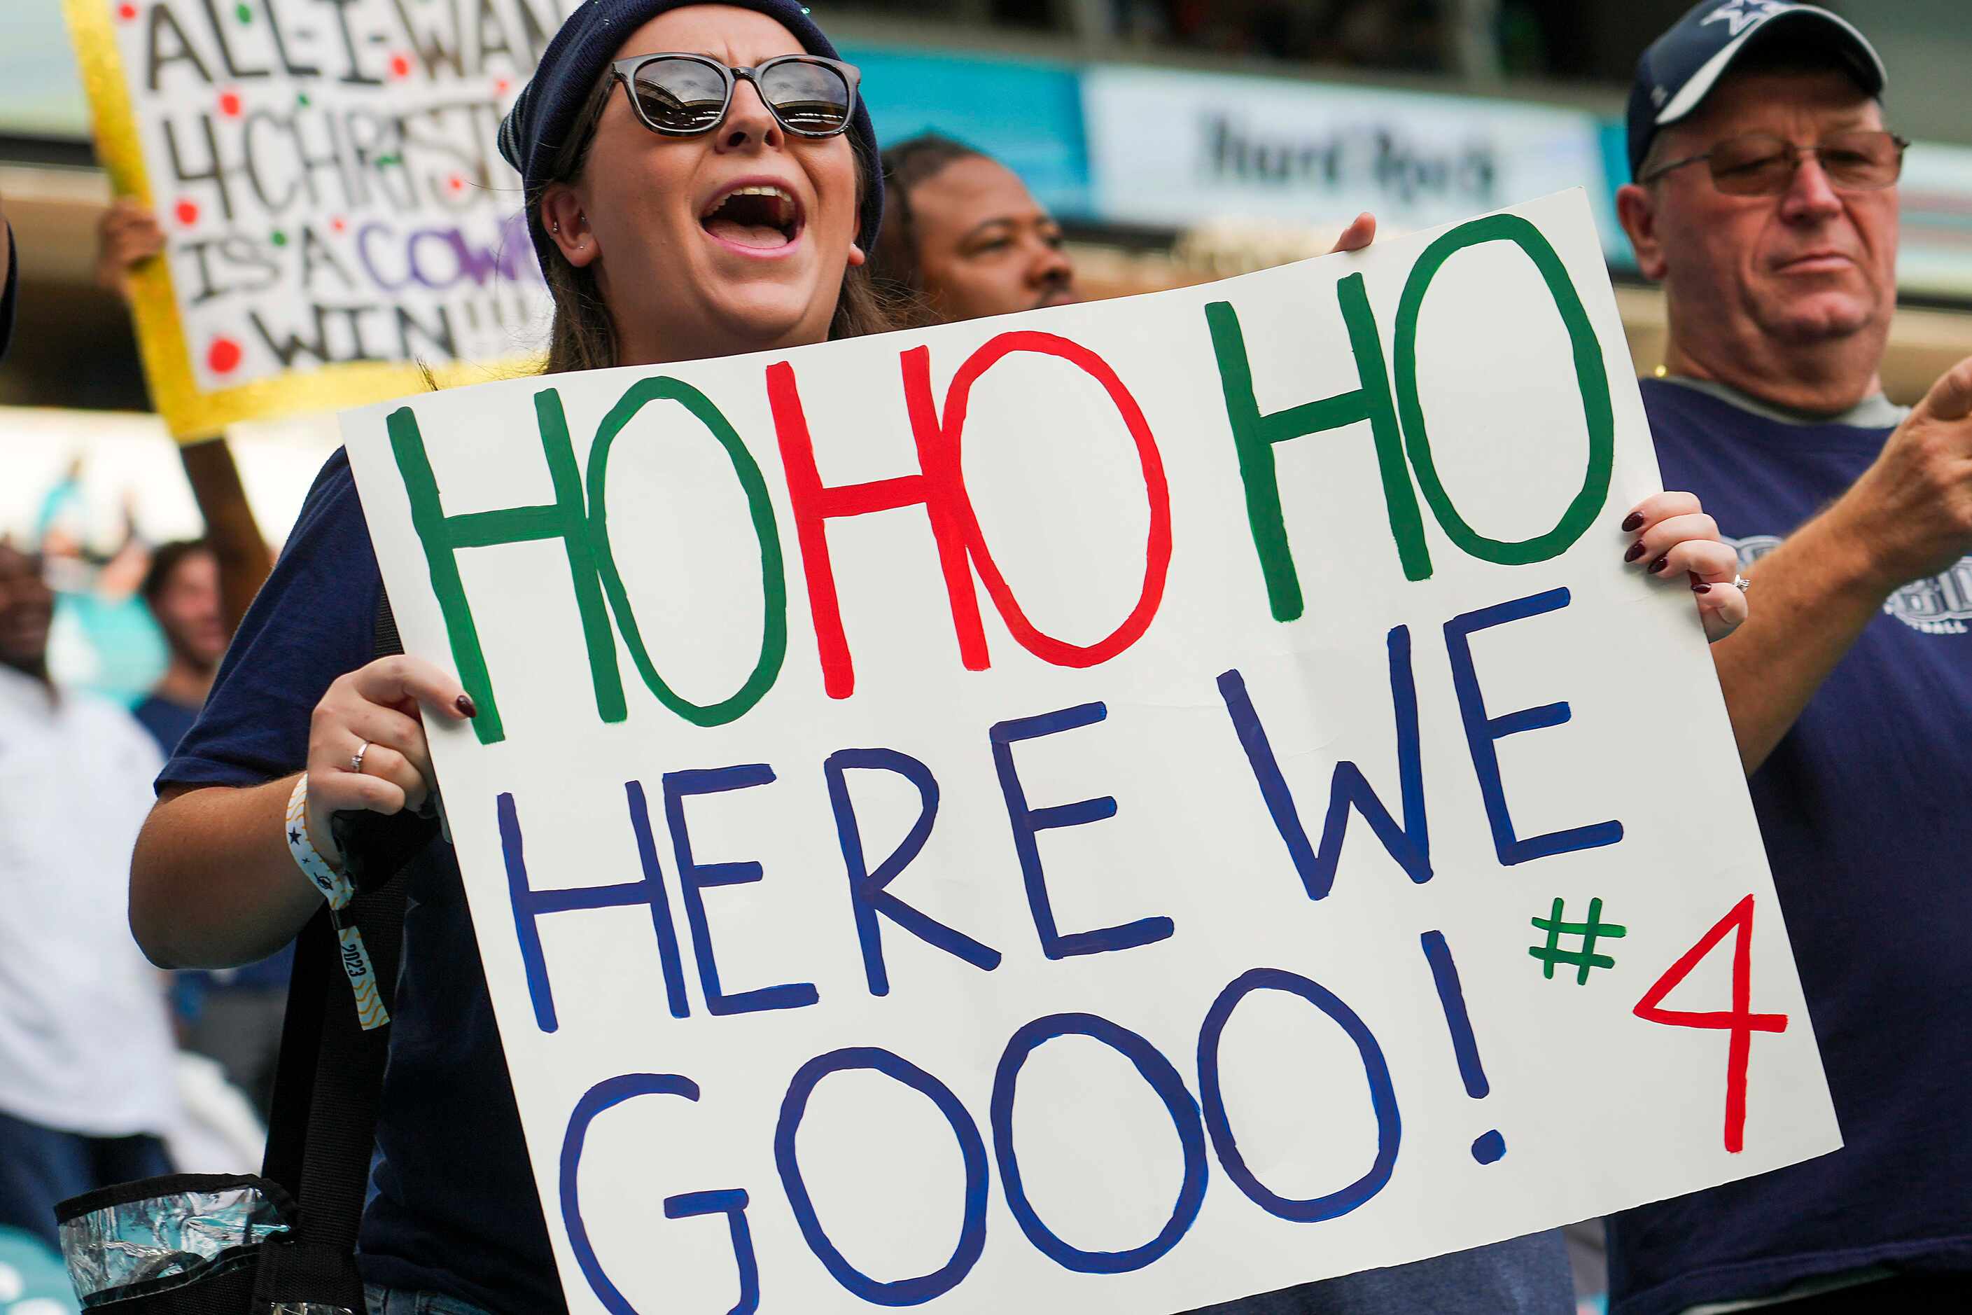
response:
[[[302,771],[316,704],[373,657],[381,593],[349,457],[337,451],[160,787],[262,785]],[[452,846],[434,840],[406,877],[363,1278],[497,1315],[564,1311]]]

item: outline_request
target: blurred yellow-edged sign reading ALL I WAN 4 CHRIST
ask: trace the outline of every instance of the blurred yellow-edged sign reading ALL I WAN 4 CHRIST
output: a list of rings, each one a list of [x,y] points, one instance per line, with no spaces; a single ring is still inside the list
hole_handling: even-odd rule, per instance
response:
[[[528,369],[548,292],[495,130],[578,0],[63,0],[172,432]]]

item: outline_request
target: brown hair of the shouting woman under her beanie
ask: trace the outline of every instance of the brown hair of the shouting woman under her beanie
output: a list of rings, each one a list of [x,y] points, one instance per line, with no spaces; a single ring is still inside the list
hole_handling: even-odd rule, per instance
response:
[[[596,140],[596,124],[609,104],[615,79],[605,73],[590,93],[588,103],[576,116],[576,126],[568,140],[554,154],[548,172],[550,181],[574,181],[588,164],[590,144]],[[856,156],[856,199],[862,201],[866,187],[862,152]],[[527,197],[528,231],[540,223],[540,197],[546,185],[534,187]],[[615,325],[609,319],[609,306],[596,286],[596,270],[576,268],[552,242],[542,274],[548,280],[548,294],[554,298],[554,323],[548,329],[546,375],[562,371],[598,371],[617,365]],[[862,337],[866,333],[885,333],[899,325],[891,313],[891,298],[885,298],[868,266],[850,266],[842,272],[842,294],[836,298],[836,313],[828,321],[828,339]]]

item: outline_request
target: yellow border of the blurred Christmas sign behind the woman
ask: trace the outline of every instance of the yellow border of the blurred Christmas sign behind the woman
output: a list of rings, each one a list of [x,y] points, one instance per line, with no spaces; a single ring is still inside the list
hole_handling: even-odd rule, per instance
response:
[[[110,189],[156,209],[136,108],[124,81],[122,53],[116,49],[110,0],[63,0],[61,8],[75,41],[83,89],[89,93],[97,160],[110,175]],[[191,369],[168,260],[144,260],[130,272],[130,317],[152,404],[172,438],[181,444],[215,438],[239,420],[367,406],[424,392],[432,382],[450,388],[540,371],[538,359],[446,361],[430,367],[428,381],[422,369],[404,361],[351,361],[207,392]]]

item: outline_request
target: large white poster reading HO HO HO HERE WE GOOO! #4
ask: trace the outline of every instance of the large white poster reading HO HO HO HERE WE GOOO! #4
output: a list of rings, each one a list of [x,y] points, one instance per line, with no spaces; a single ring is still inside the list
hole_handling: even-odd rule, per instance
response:
[[[1163,1315],[1838,1145],[1580,193],[345,436],[574,1311]]]

